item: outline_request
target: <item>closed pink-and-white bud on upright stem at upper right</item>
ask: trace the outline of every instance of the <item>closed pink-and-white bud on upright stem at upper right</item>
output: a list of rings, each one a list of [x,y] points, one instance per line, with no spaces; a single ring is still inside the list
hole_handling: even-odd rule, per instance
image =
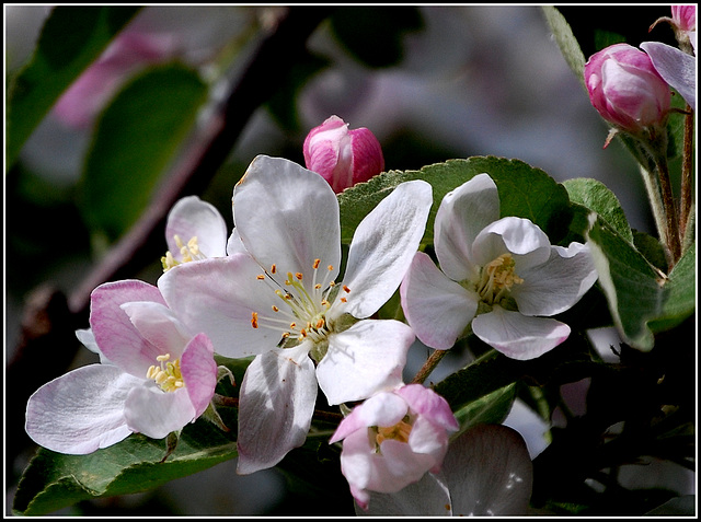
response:
[[[594,108],[618,128],[640,135],[664,125],[669,85],[642,50],[628,44],[607,47],[589,58],[584,79]]]

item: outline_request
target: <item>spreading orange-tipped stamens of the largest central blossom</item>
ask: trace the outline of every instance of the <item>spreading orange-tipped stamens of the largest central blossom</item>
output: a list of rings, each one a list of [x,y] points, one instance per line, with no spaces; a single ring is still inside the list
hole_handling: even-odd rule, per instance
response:
[[[266,274],[258,275],[257,280],[266,282],[280,299],[280,303],[279,306],[272,306],[272,314],[252,312],[251,326],[278,330],[284,346],[288,340],[299,344],[307,339],[315,345],[324,345],[326,336],[333,329],[333,321],[326,316],[326,312],[338,294],[338,299],[345,302],[345,294],[350,292],[350,289],[346,286],[338,288],[335,281],[327,280],[333,270],[331,265],[327,270],[321,270],[325,274],[319,276],[320,265],[321,259],[314,259],[311,281],[307,281],[301,272],[288,272],[284,287],[271,277],[277,272],[276,265]],[[319,352],[318,360],[323,355],[323,350]]]

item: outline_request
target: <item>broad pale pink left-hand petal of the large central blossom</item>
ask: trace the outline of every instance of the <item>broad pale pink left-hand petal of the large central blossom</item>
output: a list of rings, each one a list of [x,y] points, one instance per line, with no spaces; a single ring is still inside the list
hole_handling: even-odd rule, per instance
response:
[[[254,328],[252,313],[273,314],[280,299],[258,280],[261,267],[246,254],[185,263],[165,274],[158,286],[187,328],[205,333],[217,353],[249,357],[277,346],[281,332]]]

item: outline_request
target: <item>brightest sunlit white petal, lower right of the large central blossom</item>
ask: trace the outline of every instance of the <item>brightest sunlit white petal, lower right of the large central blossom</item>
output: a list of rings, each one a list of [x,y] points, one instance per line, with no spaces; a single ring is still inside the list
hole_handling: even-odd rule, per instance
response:
[[[329,336],[329,351],[317,367],[329,404],[360,401],[402,385],[406,352],[415,340],[404,323],[364,320]]]

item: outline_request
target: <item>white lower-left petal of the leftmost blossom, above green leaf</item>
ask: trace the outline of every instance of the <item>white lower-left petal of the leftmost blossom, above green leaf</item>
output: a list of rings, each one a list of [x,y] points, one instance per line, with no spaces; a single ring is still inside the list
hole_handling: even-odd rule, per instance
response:
[[[59,453],[84,455],[107,448],[131,433],[124,403],[142,382],[111,364],[72,370],[32,394],[25,430],[34,442]]]

